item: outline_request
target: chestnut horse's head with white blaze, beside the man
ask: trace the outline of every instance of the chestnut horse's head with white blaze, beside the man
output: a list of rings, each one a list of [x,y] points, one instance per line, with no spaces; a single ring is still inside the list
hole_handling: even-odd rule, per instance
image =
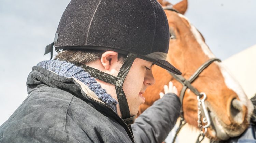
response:
[[[159,3],[163,7],[172,6],[163,0],[159,0]],[[185,79],[189,79],[202,64],[214,58],[214,55],[205,44],[200,32],[183,15],[187,9],[187,0],[172,7],[177,12],[165,9],[170,28],[167,60],[181,70]],[[163,85],[168,85],[169,81],[173,82],[179,93],[183,87],[180,82],[160,67],[154,66],[152,72],[156,82],[143,94],[146,102],[140,106],[138,115],[159,99],[159,93],[163,92]],[[211,125],[207,127],[205,135],[209,139],[227,140],[244,132],[248,127],[253,105],[239,83],[234,80],[221,62],[211,63],[191,85],[207,95],[205,106],[210,116]],[[198,100],[196,94],[190,89],[185,91],[182,106],[185,121],[198,128]]]

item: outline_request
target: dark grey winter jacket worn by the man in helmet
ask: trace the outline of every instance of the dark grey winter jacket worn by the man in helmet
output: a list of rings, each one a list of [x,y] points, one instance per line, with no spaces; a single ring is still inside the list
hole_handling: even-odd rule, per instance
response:
[[[0,142],[162,142],[180,111],[175,94],[167,94],[125,122],[82,82],[34,66],[28,97],[0,126]]]

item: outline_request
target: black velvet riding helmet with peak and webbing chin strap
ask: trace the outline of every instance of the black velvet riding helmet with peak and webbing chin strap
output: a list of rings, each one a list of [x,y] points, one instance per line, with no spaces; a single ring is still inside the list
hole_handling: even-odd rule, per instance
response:
[[[117,95],[122,96],[123,81],[136,57],[181,75],[166,61],[169,39],[166,15],[156,0],[71,0],[60,19],[54,43],[46,46],[45,54],[52,53],[54,44],[57,50],[112,50],[128,55],[119,72],[123,74],[118,74],[119,77],[111,83],[119,87],[116,89]],[[96,70],[82,67],[86,71]],[[102,74],[98,71],[98,75]],[[109,79],[92,76],[110,83]],[[113,77],[109,75],[108,78]],[[122,112],[122,102],[119,99],[118,102]],[[129,116],[122,113],[122,117]]]

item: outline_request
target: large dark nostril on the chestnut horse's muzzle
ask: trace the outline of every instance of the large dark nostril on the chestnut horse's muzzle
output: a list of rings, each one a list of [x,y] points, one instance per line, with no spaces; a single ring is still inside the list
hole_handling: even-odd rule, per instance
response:
[[[230,105],[230,112],[231,112],[231,117],[236,123],[238,124],[243,123],[244,113],[243,113],[243,104],[241,101],[239,101],[238,99],[233,99]]]

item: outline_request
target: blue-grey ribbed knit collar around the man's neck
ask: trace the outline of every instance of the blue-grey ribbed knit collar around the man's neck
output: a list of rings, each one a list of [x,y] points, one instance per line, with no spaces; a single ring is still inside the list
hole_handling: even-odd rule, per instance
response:
[[[106,93],[105,89],[102,89],[100,84],[95,81],[95,78],[91,77],[88,72],[85,72],[81,67],[77,67],[72,63],[59,60],[45,60],[39,62],[37,66],[41,66],[47,70],[51,70],[62,77],[74,77],[77,80],[87,85],[106,105],[110,106],[116,113],[117,101]]]

